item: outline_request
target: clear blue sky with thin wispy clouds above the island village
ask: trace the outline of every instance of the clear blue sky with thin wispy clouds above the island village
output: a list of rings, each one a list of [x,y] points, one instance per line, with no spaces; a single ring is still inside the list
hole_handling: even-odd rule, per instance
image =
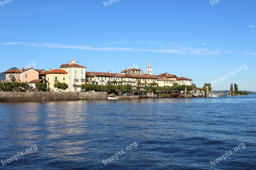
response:
[[[3,1],[3,0],[1,0]],[[0,72],[57,69],[73,58],[88,71],[137,64],[189,77],[202,87],[246,64],[214,90],[256,91],[256,1],[12,0],[0,5]]]

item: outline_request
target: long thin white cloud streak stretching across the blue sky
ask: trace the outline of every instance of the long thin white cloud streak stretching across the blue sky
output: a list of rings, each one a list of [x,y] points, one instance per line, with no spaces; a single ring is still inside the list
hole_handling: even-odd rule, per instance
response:
[[[131,52],[158,52],[158,53],[172,53],[172,54],[194,54],[194,55],[214,55],[220,51],[212,51],[208,48],[188,48],[188,47],[176,47],[165,49],[148,49],[148,48],[130,48],[130,47],[90,47],[90,46],[76,46],[76,45],[61,45],[53,43],[27,43],[27,42],[5,42],[4,45],[23,45],[29,47],[39,48],[66,48],[66,49],[82,49],[82,50],[94,50],[94,51],[131,51]]]

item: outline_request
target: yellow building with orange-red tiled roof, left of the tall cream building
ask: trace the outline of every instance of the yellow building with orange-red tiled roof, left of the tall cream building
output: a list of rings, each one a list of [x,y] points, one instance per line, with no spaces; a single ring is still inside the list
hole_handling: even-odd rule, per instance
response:
[[[68,78],[68,72],[65,70],[52,70],[50,69],[49,71],[45,71],[46,74],[46,80],[49,82],[49,87],[52,89],[52,91],[56,92],[59,89],[54,87],[54,84],[57,82],[60,83],[67,83],[67,78]],[[68,91],[65,90],[65,91]]]

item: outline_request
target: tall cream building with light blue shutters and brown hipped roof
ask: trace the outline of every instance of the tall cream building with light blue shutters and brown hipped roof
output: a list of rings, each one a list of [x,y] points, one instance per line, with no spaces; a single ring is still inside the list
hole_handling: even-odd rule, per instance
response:
[[[67,64],[62,64],[60,69],[68,72],[68,92],[81,91],[81,85],[85,84],[87,67],[79,65],[75,59],[73,59]]]

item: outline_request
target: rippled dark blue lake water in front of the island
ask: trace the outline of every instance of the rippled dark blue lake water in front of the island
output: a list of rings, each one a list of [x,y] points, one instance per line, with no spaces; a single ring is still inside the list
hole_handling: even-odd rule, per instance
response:
[[[20,154],[0,169],[256,169],[255,106],[256,95],[0,103],[0,161]]]

